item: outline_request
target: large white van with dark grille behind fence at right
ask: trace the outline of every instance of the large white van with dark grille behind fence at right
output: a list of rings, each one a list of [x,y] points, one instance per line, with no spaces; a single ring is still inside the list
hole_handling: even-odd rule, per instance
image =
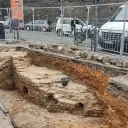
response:
[[[104,49],[120,50],[121,37],[124,26],[125,6],[120,6],[111,20],[101,26],[99,44]],[[125,25],[124,49],[128,50],[128,13]]]

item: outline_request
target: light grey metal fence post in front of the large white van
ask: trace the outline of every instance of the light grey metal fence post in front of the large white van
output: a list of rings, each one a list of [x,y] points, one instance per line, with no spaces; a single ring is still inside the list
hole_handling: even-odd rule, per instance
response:
[[[126,17],[127,17],[127,7],[128,3],[125,4],[125,13],[124,13],[124,25],[123,25],[123,33],[121,38],[121,45],[120,45],[120,59],[122,58],[123,52],[124,52],[124,41],[125,41],[125,25],[126,25]]]

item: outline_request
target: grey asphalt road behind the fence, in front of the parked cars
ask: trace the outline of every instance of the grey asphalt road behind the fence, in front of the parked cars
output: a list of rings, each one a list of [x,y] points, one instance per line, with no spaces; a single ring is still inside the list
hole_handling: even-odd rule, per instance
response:
[[[10,33],[9,29],[5,30],[5,36],[6,36],[6,40],[14,40],[14,33]],[[20,40],[27,41],[27,42],[33,42],[35,44],[38,44],[38,43],[74,44],[73,36],[70,36],[70,37],[57,36],[55,31],[54,32],[39,32],[39,31],[33,32],[33,31],[20,30],[19,36],[20,36]],[[0,44],[5,45],[5,42],[7,41],[0,40]],[[28,44],[27,42],[26,44]],[[26,44],[19,43],[19,45],[26,45]],[[81,49],[91,50],[90,39],[84,41],[82,44],[79,44],[79,47]],[[114,56],[119,55],[112,51],[110,52],[110,51],[102,50],[99,45],[98,45],[98,51],[101,53],[106,53],[106,54],[114,55]]]

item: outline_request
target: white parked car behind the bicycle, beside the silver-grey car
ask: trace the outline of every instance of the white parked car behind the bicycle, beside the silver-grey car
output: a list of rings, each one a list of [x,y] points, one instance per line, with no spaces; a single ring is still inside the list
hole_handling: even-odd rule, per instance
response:
[[[57,35],[60,36],[62,35],[62,33],[66,36],[68,35],[73,35],[74,33],[74,28],[77,30],[77,31],[81,31],[81,29],[83,29],[84,31],[89,29],[89,28],[92,28],[93,26],[92,25],[88,25],[87,27],[87,23],[83,22],[82,20],[78,19],[78,18],[63,18],[63,23],[61,23],[61,18],[58,18],[57,20],[57,24],[56,24],[56,32],[57,32]],[[75,21],[75,26],[72,26],[72,23]],[[62,32],[63,30],[63,32]]]

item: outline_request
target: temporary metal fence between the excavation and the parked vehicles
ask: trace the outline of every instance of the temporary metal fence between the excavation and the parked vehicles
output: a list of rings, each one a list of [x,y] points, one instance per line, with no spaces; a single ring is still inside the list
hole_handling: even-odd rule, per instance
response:
[[[121,5],[124,5],[121,21],[110,21]],[[128,53],[127,8],[127,2],[82,6],[24,7],[23,30],[19,26],[12,33],[11,24],[9,24],[9,29],[5,30],[5,39],[26,40],[32,43],[75,44],[82,49],[88,48],[95,52],[104,50],[119,53],[121,57]],[[11,8],[6,10],[10,20]],[[72,22],[75,22],[75,26]],[[106,28],[103,27],[105,23],[108,25]],[[113,23],[112,26],[110,26],[111,23]],[[120,29],[118,26],[114,27],[117,24],[121,24]]]

